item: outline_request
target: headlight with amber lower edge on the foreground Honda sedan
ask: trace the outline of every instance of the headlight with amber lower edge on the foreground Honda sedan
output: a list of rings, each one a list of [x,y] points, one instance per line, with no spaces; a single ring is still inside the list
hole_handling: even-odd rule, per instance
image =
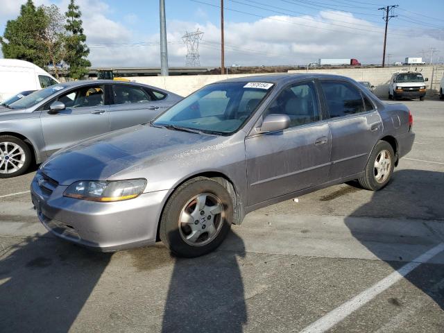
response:
[[[109,203],[133,199],[142,194],[146,187],[146,179],[130,179],[116,181],[74,182],[65,190],[63,196],[70,198],[101,201]]]

